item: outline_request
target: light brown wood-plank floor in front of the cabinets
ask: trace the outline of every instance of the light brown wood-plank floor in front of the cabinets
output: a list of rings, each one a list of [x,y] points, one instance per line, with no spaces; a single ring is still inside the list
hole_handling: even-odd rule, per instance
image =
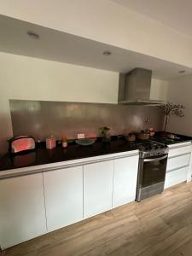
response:
[[[6,256],[192,256],[192,182],[24,242]]]

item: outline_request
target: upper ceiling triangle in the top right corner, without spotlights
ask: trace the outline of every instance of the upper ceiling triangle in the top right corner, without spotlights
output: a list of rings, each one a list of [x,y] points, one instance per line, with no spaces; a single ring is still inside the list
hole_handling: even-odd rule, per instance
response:
[[[111,0],[192,37],[191,0]]]

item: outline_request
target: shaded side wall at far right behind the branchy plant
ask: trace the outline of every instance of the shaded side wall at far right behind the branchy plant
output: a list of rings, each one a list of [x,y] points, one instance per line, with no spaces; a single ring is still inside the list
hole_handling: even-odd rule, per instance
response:
[[[171,116],[168,131],[192,137],[192,75],[172,79],[168,83],[167,101],[185,106],[183,118]]]

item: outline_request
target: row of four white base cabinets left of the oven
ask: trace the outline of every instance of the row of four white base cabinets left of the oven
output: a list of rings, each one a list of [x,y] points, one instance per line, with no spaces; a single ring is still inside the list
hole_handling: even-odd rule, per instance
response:
[[[134,201],[137,165],[134,151],[1,172],[0,246]]]

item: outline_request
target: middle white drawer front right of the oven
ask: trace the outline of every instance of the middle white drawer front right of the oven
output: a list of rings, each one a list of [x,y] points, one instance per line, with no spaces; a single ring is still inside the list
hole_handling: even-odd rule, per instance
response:
[[[166,172],[169,172],[173,169],[178,169],[183,166],[189,166],[190,154],[183,154],[177,157],[168,159]]]

